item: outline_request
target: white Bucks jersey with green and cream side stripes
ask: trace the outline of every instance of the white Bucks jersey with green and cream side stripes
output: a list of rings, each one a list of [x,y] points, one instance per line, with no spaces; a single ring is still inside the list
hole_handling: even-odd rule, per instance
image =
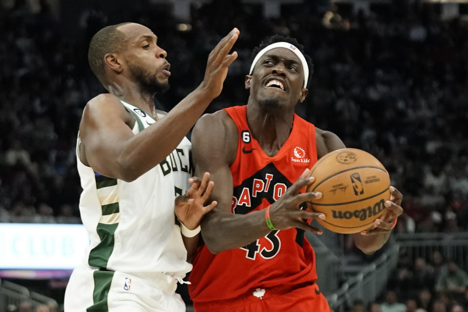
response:
[[[135,135],[156,122],[139,108],[121,102],[136,119]],[[192,269],[174,215],[175,197],[190,186],[190,150],[191,143],[184,137],[165,160],[133,182],[101,176],[78,156],[83,188],[79,210],[91,239],[85,257],[89,267],[176,276]]]

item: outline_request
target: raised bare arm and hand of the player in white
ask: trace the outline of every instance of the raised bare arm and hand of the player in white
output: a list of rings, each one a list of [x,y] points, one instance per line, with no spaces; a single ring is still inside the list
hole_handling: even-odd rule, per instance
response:
[[[208,57],[202,83],[164,118],[137,136],[130,130],[127,113],[116,97],[104,94],[93,98],[80,124],[86,162],[104,176],[125,181],[135,180],[161,162],[220,94],[228,67],[237,58],[236,52],[229,51],[238,35],[239,30],[234,28],[221,39]]]

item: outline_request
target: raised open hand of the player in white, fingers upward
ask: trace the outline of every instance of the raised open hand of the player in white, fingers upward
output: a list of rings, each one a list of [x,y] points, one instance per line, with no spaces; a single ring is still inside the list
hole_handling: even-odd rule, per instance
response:
[[[237,52],[228,54],[239,36],[239,30],[234,28],[221,39],[208,56],[205,78],[201,83],[209,98],[216,98],[223,89],[223,83],[228,74],[228,67],[237,58]]]

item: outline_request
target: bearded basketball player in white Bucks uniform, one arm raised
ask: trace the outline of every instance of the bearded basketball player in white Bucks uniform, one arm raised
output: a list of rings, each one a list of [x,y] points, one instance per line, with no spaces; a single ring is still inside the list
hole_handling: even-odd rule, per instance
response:
[[[79,126],[79,209],[90,246],[67,286],[66,312],[185,311],[176,284],[192,269],[187,253],[201,217],[216,205],[204,206],[209,174],[190,178],[185,135],[220,94],[238,35],[234,28],[216,45],[204,80],[167,114],[154,97],[169,87],[170,64],[149,28],[107,26],[91,40],[91,69],[109,93],[88,102]]]

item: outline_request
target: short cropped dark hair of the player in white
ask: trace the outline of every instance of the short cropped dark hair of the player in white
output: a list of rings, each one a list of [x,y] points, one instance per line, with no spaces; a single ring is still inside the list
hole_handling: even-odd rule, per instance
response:
[[[117,28],[125,24],[128,24],[128,22],[102,28],[93,36],[89,43],[89,66],[102,84],[106,81],[104,56],[108,53],[118,53],[122,50],[122,43],[126,37],[125,34],[117,30]]]

